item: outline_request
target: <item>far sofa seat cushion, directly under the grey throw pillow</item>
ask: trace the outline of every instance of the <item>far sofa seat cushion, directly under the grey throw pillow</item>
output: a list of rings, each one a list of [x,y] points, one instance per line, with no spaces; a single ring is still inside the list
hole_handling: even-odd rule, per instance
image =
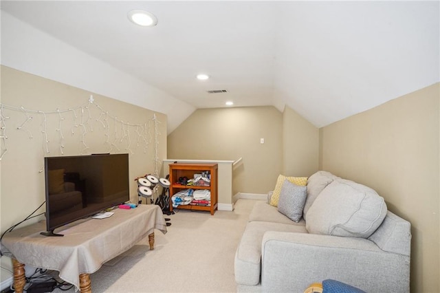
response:
[[[296,223],[278,212],[276,206],[271,206],[263,201],[257,201],[254,204],[254,208],[252,208],[252,212],[249,215],[249,221],[270,221],[272,223],[305,226],[304,219],[300,219],[300,221]]]

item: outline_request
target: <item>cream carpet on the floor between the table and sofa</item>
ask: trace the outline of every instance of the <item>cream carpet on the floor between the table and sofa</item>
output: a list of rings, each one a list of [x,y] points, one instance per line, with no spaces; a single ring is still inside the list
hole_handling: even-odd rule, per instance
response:
[[[168,232],[148,237],[90,275],[100,292],[236,292],[234,254],[256,200],[239,199],[234,211],[176,210]],[[74,292],[54,290],[54,292]]]

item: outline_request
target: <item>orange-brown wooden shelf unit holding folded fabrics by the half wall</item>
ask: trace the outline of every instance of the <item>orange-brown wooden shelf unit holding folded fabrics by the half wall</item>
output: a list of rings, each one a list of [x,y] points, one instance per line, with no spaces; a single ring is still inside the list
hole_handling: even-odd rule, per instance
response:
[[[217,164],[170,164],[170,210],[173,210],[173,202],[171,197],[183,191],[185,189],[193,189],[194,191],[206,189],[210,191],[211,202],[210,206],[202,206],[195,204],[179,205],[177,208],[186,210],[207,210],[210,211],[211,215],[214,215],[215,210],[217,210]],[[194,174],[201,174],[204,171],[210,172],[210,186],[196,186],[196,185],[182,185],[179,183],[180,177],[187,177],[188,179],[193,179]]]

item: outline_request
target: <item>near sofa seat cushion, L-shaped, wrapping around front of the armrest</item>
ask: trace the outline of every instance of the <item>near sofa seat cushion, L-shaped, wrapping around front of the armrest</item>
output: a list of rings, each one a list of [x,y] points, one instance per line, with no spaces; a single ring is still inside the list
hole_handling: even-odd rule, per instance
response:
[[[276,208],[274,209],[276,210]],[[235,253],[234,273],[236,283],[241,285],[258,285],[260,283],[261,243],[264,233],[267,231],[307,233],[305,226],[265,221],[249,222]]]

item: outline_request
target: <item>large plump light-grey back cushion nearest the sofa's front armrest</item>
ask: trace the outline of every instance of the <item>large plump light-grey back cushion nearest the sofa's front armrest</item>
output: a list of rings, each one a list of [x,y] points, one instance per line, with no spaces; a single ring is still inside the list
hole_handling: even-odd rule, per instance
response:
[[[373,189],[333,180],[309,208],[306,227],[314,234],[368,238],[385,216],[385,201]]]

